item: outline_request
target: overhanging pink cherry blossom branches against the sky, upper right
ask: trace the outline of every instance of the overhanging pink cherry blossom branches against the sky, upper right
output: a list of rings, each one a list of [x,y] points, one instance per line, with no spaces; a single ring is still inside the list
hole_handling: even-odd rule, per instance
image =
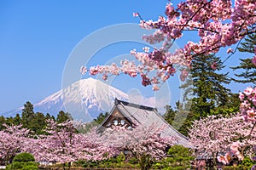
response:
[[[160,48],[143,48],[143,52],[131,50],[131,55],[140,64],[127,59],[120,65],[97,65],[88,70],[81,67],[81,72],[90,72],[90,75],[102,74],[103,79],[109,75],[125,73],[130,77],[142,77],[143,86],[153,85],[153,89],[159,89],[157,85],[171,77],[176,69],[174,65],[184,67],[182,79],[187,76],[191,59],[200,54],[215,54],[220,48],[238,44],[241,40],[256,32],[256,2],[255,0],[186,0],[174,7],[172,3],[166,4],[166,17],[160,16],[159,20],[143,20],[142,16],[135,13],[141,19],[140,26],[143,29],[154,29],[152,35],[143,36],[150,44],[162,42]],[[196,31],[200,37],[198,42],[187,42],[183,48],[175,53],[169,49],[177,39],[183,38],[183,32]],[[229,48],[227,53],[234,54],[236,49]],[[229,58],[228,56],[227,58]],[[256,57],[253,58],[255,63]],[[212,63],[212,67],[216,67]],[[155,71],[154,76],[149,72]],[[150,74],[152,75],[152,74]]]

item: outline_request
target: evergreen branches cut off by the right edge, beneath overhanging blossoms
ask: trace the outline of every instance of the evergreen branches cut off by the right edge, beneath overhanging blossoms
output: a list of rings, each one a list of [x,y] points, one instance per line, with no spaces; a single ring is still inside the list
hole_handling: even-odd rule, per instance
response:
[[[248,35],[245,41],[241,42],[241,47],[238,48],[241,52],[252,54],[252,58],[240,59],[240,65],[230,67],[233,71],[243,70],[241,73],[235,74],[238,79],[232,78],[233,81],[241,83],[252,82],[254,86],[256,85],[256,65],[252,63],[254,47],[256,47],[256,33]]]

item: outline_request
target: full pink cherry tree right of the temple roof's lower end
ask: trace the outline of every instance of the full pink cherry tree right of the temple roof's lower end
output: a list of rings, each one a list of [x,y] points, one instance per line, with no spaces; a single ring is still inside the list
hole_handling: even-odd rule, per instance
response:
[[[208,116],[195,121],[189,138],[199,155],[212,154],[227,164],[231,155],[242,160],[243,150],[256,144],[256,131],[252,127],[253,123],[244,122],[243,116]]]

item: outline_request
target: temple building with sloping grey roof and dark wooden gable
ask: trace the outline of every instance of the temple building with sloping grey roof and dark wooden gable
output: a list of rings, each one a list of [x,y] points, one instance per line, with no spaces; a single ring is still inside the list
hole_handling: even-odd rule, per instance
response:
[[[160,127],[165,126],[165,129],[160,133],[161,137],[175,136],[177,138],[177,144],[193,148],[188,138],[177,132],[174,127],[165,121],[155,108],[131,104],[119,99],[115,99],[113,109],[96,130],[103,132],[104,129],[112,126],[125,126],[127,129],[132,129],[137,126],[148,126],[151,123],[159,125]]]

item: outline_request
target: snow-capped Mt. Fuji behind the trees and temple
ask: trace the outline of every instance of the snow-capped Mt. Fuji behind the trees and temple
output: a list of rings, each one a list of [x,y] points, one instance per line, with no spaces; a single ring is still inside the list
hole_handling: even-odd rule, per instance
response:
[[[128,101],[128,94],[105,82],[87,78],[74,82],[33,105],[35,112],[56,116],[59,111],[67,111],[74,120],[90,122],[101,112],[110,111],[115,98]],[[22,108],[9,111],[4,116],[15,116],[16,113],[21,115]]]

